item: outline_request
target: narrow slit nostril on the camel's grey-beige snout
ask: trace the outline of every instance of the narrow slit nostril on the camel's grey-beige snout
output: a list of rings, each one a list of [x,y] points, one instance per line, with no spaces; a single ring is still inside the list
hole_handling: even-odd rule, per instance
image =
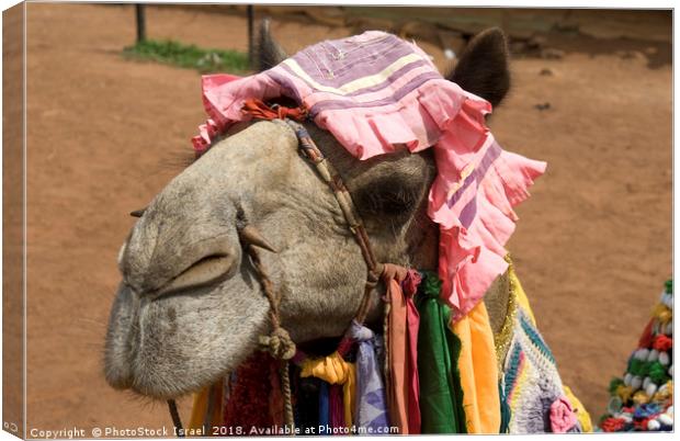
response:
[[[211,255],[192,263],[179,275],[152,293],[152,297],[177,294],[186,290],[195,290],[220,283],[228,279],[236,268],[234,255]]]

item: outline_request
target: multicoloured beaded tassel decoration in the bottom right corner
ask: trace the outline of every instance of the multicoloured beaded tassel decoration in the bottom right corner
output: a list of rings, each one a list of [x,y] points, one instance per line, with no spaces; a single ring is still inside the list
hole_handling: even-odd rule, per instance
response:
[[[605,432],[673,429],[672,280],[628,359],[623,378],[610,383],[611,399],[600,420]]]

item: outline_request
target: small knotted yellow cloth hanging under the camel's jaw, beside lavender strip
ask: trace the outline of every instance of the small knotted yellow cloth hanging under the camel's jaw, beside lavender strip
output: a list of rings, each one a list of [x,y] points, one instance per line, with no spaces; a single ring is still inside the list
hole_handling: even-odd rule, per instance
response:
[[[344,361],[338,352],[333,352],[321,359],[303,361],[299,376],[314,376],[329,384],[342,385],[344,425],[351,429],[354,421],[354,400],[356,397],[356,366]]]

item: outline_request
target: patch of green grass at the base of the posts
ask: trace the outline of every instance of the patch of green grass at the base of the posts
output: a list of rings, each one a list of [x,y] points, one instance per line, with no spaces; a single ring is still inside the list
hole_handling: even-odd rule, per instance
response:
[[[204,49],[171,39],[145,39],[123,49],[123,55],[134,59],[152,60],[202,74],[249,70],[248,55],[236,50]]]

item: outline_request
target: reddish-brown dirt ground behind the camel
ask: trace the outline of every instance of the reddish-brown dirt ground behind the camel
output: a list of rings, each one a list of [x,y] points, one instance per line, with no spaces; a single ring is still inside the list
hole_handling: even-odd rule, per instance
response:
[[[247,48],[242,16],[147,14],[151,37]],[[273,31],[288,50],[347,35],[295,22]],[[670,20],[668,35],[548,36],[564,57],[517,57],[491,121],[507,149],[548,162],[509,249],[565,383],[593,416],[671,275]],[[102,375],[127,213],[181,170],[172,162],[204,120],[200,75],[125,60],[134,37],[131,5],[27,4],[29,436],[170,428],[165,404]]]

